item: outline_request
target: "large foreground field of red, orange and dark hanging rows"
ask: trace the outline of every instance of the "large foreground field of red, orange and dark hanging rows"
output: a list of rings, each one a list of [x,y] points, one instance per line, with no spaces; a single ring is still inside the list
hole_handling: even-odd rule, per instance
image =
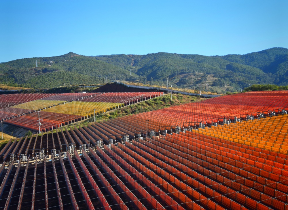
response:
[[[0,209],[288,209],[287,93],[221,96],[11,140],[0,151]]]

